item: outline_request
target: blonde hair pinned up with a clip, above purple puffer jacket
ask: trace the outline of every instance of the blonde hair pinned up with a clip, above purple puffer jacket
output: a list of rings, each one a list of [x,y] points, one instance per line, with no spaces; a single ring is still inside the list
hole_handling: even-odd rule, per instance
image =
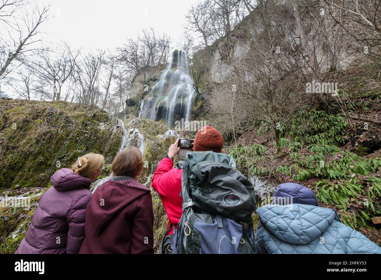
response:
[[[91,178],[95,171],[102,170],[104,165],[104,157],[99,154],[86,154],[79,157],[81,166],[79,166],[78,159],[72,166],[75,174],[79,174],[86,178]]]

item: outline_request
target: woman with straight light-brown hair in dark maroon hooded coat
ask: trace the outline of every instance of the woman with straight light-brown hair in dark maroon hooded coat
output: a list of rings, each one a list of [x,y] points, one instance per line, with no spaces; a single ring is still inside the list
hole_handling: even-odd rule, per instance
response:
[[[143,168],[136,147],[112,162],[112,177],[94,192],[87,207],[80,254],[154,253],[154,213],[150,190],[135,179]]]

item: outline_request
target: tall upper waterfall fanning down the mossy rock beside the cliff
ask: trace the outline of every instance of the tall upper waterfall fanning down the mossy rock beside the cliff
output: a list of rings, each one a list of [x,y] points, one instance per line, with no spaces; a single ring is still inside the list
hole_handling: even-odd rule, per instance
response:
[[[169,128],[176,120],[190,121],[195,90],[184,51],[174,51],[172,60],[141,101],[139,117],[165,120]]]

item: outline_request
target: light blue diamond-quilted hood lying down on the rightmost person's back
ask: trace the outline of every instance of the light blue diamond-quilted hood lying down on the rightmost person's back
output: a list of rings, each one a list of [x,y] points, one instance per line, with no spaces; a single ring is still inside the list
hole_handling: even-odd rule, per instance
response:
[[[335,210],[314,205],[265,205],[257,209],[264,227],[275,237],[291,244],[307,244],[319,237],[333,221]]]

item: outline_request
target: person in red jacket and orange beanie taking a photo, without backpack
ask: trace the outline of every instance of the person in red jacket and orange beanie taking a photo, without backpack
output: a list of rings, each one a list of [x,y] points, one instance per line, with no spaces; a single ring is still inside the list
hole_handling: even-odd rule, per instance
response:
[[[172,168],[173,158],[178,154],[179,138],[168,149],[168,154],[163,158],[152,178],[152,188],[158,192],[168,216],[168,226],[177,228],[182,213],[181,176],[182,169]],[[224,139],[218,130],[211,126],[204,126],[197,131],[194,138],[193,150],[195,152],[213,151],[221,153]],[[168,232],[172,234],[173,229]]]

